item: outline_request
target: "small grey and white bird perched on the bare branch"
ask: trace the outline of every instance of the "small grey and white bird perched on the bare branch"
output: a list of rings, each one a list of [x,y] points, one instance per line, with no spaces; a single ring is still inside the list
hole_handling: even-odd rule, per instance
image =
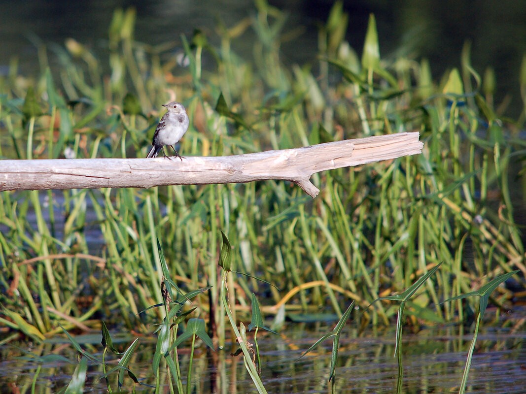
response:
[[[155,129],[154,139],[151,141],[152,147],[146,158],[157,157],[157,154],[163,151],[163,156],[170,159],[164,151],[164,146],[168,145],[174,150],[175,157],[183,161],[183,157],[175,150],[174,145],[185,135],[190,119],[188,119],[185,106],[180,102],[171,101],[168,104],[163,104],[163,107],[168,112],[159,120],[159,124]]]

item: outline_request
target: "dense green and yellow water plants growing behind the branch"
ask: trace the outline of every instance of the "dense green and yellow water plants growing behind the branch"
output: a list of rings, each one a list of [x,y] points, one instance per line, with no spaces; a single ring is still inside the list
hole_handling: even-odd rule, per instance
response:
[[[484,297],[499,308],[513,299],[503,279],[524,291],[524,245],[515,218],[523,203],[525,113],[513,121],[495,109],[491,69],[482,79],[470,64],[469,46],[460,68],[444,72],[438,83],[425,59],[381,59],[372,16],[360,58],[345,42],[347,16],[339,3],[320,27],[319,56],[288,67],[279,57],[286,15],[257,5],[253,18],[219,24],[213,40],[196,30],[159,46],[134,40],[134,11],[117,11],[100,58],[71,39],[64,47],[38,48],[36,79],[18,75],[13,60],[0,77],[1,157],[145,157],[160,105],[174,96],[191,119],[183,155],[403,131],[420,132],[423,153],[316,174],[321,192],[313,200],[295,185],[272,180],[2,192],[0,325],[8,330],[1,344],[97,330],[110,351],[106,326],[137,335],[157,330],[157,390],[162,357],[171,390],[189,393],[192,359],[184,388],[179,325],[194,332],[185,336],[191,354],[196,338],[217,350],[229,343],[232,329],[243,337],[244,326],[237,327],[251,314],[259,323],[250,328],[266,328],[261,312],[274,318],[273,330],[298,313],[315,320],[331,313],[341,324],[327,338],[339,338],[347,318],[359,322],[360,332],[397,325],[399,346],[404,324],[463,325],[473,309],[479,310],[478,329]],[[257,36],[254,61],[231,50],[248,29]],[[59,67],[50,66],[49,52]],[[522,84],[526,92],[526,77]],[[227,261],[231,271],[249,276],[227,275]],[[419,282],[422,277],[427,280]],[[492,280],[495,286],[470,294]],[[482,295],[485,304],[464,295]],[[86,356],[75,372],[82,378],[86,358],[102,361],[70,339]],[[255,349],[241,348],[256,388],[265,392],[248,361]],[[119,386],[125,368],[133,372],[128,361],[122,357],[114,371]],[[101,372],[110,392],[112,373]],[[330,378],[334,385],[333,364]]]

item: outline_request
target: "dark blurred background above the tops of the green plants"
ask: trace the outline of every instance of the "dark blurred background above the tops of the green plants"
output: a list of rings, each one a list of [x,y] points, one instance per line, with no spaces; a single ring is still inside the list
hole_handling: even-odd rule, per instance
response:
[[[273,0],[270,4],[290,13],[285,32],[302,26],[301,35],[294,42],[282,45],[282,60],[286,64],[313,61],[318,26],[326,22],[333,2]],[[436,79],[448,68],[460,66],[462,46],[471,40],[474,68],[481,75],[487,66],[495,70],[495,103],[511,95],[508,115],[520,112],[519,72],[526,53],[526,1],[358,0],[343,4],[349,14],[347,40],[358,54],[369,13],[374,13],[381,56],[404,54],[417,60],[426,57]],[[19,72],[36,74],[39,70],[34,43],[38,40],[63,45],[66,38],[72,37],[97,54],[104,47],[114,9],[128,6],[137,9],[135,39],[147,44],[178,41],[181,34],[191,36],[195,28],[203,29],[213,40],[217,18],[232,26],[256,13],[254,2],[248,0],[0,0],[0,75],[7,72],[9,59],[14,56],[19,60]],[[234,49],[240,56],[251,58],[253,38],[250,30],[246,38],[236,41]]]

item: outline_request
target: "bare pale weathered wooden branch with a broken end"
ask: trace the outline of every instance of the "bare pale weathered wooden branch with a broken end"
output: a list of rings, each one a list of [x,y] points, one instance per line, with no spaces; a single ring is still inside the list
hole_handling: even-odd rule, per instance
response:
[[[159,185],[296,183],[315,197],[313,173],[421,153],[419,133],[322,143],[305,148],[221,157],[156,159],[0,160],[0,191],[151,188]]]

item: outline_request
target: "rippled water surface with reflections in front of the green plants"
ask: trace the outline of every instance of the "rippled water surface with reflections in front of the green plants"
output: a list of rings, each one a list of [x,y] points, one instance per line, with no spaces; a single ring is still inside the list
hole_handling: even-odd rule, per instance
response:
[[[517,308],[504,316],[500,324],[508,328],[485,328],[477,341],[476,353],[468,380],[470,393],[523,393],[526,387],[526,331],[525,308]],[[490,314],[491,315],[491,314]],[[494,315],[494,314],[493,314]],[[502,324],[504,323],[504,324]],[[507,324],[509,323],[509,324]],[[309,327],[311,328],[309,330]],[[519,331],[516,328],[520,327]],[[403,392],[448,393],[458,390],[471,341],[470,328],[441,327],[422,329],[416,335],[403,336]],[[269,393],[325,393],[328,390],[331,341],[308,356],[298,357],[319,337],[312,326],[295,324],[288,326],[286,335],[278,337],[267,334],[258,339],[262,356],[261,379]],[[336,392],[392,393],[396,391],[397,360],[395,333],[387,331],[376,336],[356,335],[355,330],[344,331],[336,368]],[[75,337],[83,348],[98,358],[100,335],[93,333]],[[114,344],[123,350],[132,337],[116,337]],[[6,345],[1,348],[0,392],[13,392],[9,387],[31,387],[35,380],[35,392],[54,392],[65,387],[76,366],[77,356],[64,339],[58,343],[17,348]],[[23,349],[24,348],[24,349]],[[141,338],[140,345],[129,366],[141,382],[155,386],[151,372],[154,338]],[[241,357],[232,357],[232,349],[226,348],[210,353],[201,346],[194,357],[193,392],[256,392],[246,374]],[[46,356],[38,360],[37,354]],[[60,355],[60,356],[59,356]],[[65,357],[65,358],[63,358]],[[179,352],[181,376],[186,376],[189,354]],[[66,361],[66,358],[71,360]],[[117,359],[109,362],[115,366]],[[89,362],[86,389],[92,392],[106,391],[102,366]],[[161,368],[165,371],[164,368]],[[116,387],[116,374],[110,375],[110,383]],[[161,381],[166,382],[166,376]],[[122,389],[131,391],[133,382],[126,378]],[[166,392],[166,390],[162,390]],[[151,392],[148,386],[137,386],[137,392]]]

